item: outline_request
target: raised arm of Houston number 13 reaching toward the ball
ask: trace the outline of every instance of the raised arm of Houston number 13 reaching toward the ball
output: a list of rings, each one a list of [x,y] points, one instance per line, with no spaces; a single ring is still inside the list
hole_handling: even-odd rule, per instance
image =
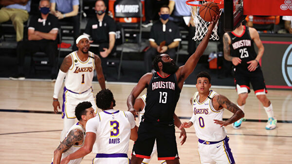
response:
[[[196,49],[195,53],[193,53],[189,57],[189,59],[186,61],[184,66],[181,66],[180,71],[179,71],[180,75],[178,78],[179,86],[183,85],[180,83],[183,83],[183,81],[194,71],[195,67],[197,66],[197,63],[199,62],[200,57],[202,56],[203,52],[205,51],[208,45],[210,36],[218,22],[218,19],[219,19],[219,15],[216,17],[213,17],[213,21],[210,23],[208,27],[208,31],[205,37],[203,38],[203,40],[201,41],[201,43],[199,44],[198,48]]]

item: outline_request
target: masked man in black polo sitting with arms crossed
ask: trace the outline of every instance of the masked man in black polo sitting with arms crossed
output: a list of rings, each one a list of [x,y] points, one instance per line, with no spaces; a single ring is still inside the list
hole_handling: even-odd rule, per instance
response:
[[[17,46],[18,57],[18,74],[10,77],[12,80],[24,80],[24,56],[28,52],[45,52],[49,57],[50,66],[52,67],[51,79],[56,78],[56,60],[57,53],[57,33],[58,19],[49,14],[50,0],[40,0],[40,15],[32,16],[28,26],[28,40],[21,41]]]

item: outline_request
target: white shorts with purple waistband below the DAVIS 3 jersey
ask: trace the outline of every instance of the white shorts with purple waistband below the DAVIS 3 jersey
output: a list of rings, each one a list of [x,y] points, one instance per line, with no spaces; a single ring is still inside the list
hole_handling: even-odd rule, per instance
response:
[[[107,157],[95,157],[92,160],[92,164],[130,164],[127,154],[124,154],[125,157],[110,157],[114,155],[116,154],[105,154]]]

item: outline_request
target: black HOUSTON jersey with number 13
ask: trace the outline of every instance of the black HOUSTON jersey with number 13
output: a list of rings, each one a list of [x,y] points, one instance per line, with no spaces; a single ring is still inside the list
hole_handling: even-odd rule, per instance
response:
[[[176,74],[162,78],[153,73],[147,88],[144,117],[161,122],[173,122],[173,114],[180,98],[181,89],[177,84]]]

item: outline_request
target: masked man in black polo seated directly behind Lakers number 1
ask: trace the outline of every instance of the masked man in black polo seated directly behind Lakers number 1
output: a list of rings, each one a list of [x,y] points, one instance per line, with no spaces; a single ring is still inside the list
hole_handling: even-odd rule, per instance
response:
[[[90,42],[92,44],[90,51],[100,57],[104,74],[107,68],[108,57],[115,51],[114,42],[116,31],[115,22],[110,16],[106,15],[106,9],[107,7],[103,0],[96,0],[94,7],[96,16],[88,20],[83,33],[91,37]]]

